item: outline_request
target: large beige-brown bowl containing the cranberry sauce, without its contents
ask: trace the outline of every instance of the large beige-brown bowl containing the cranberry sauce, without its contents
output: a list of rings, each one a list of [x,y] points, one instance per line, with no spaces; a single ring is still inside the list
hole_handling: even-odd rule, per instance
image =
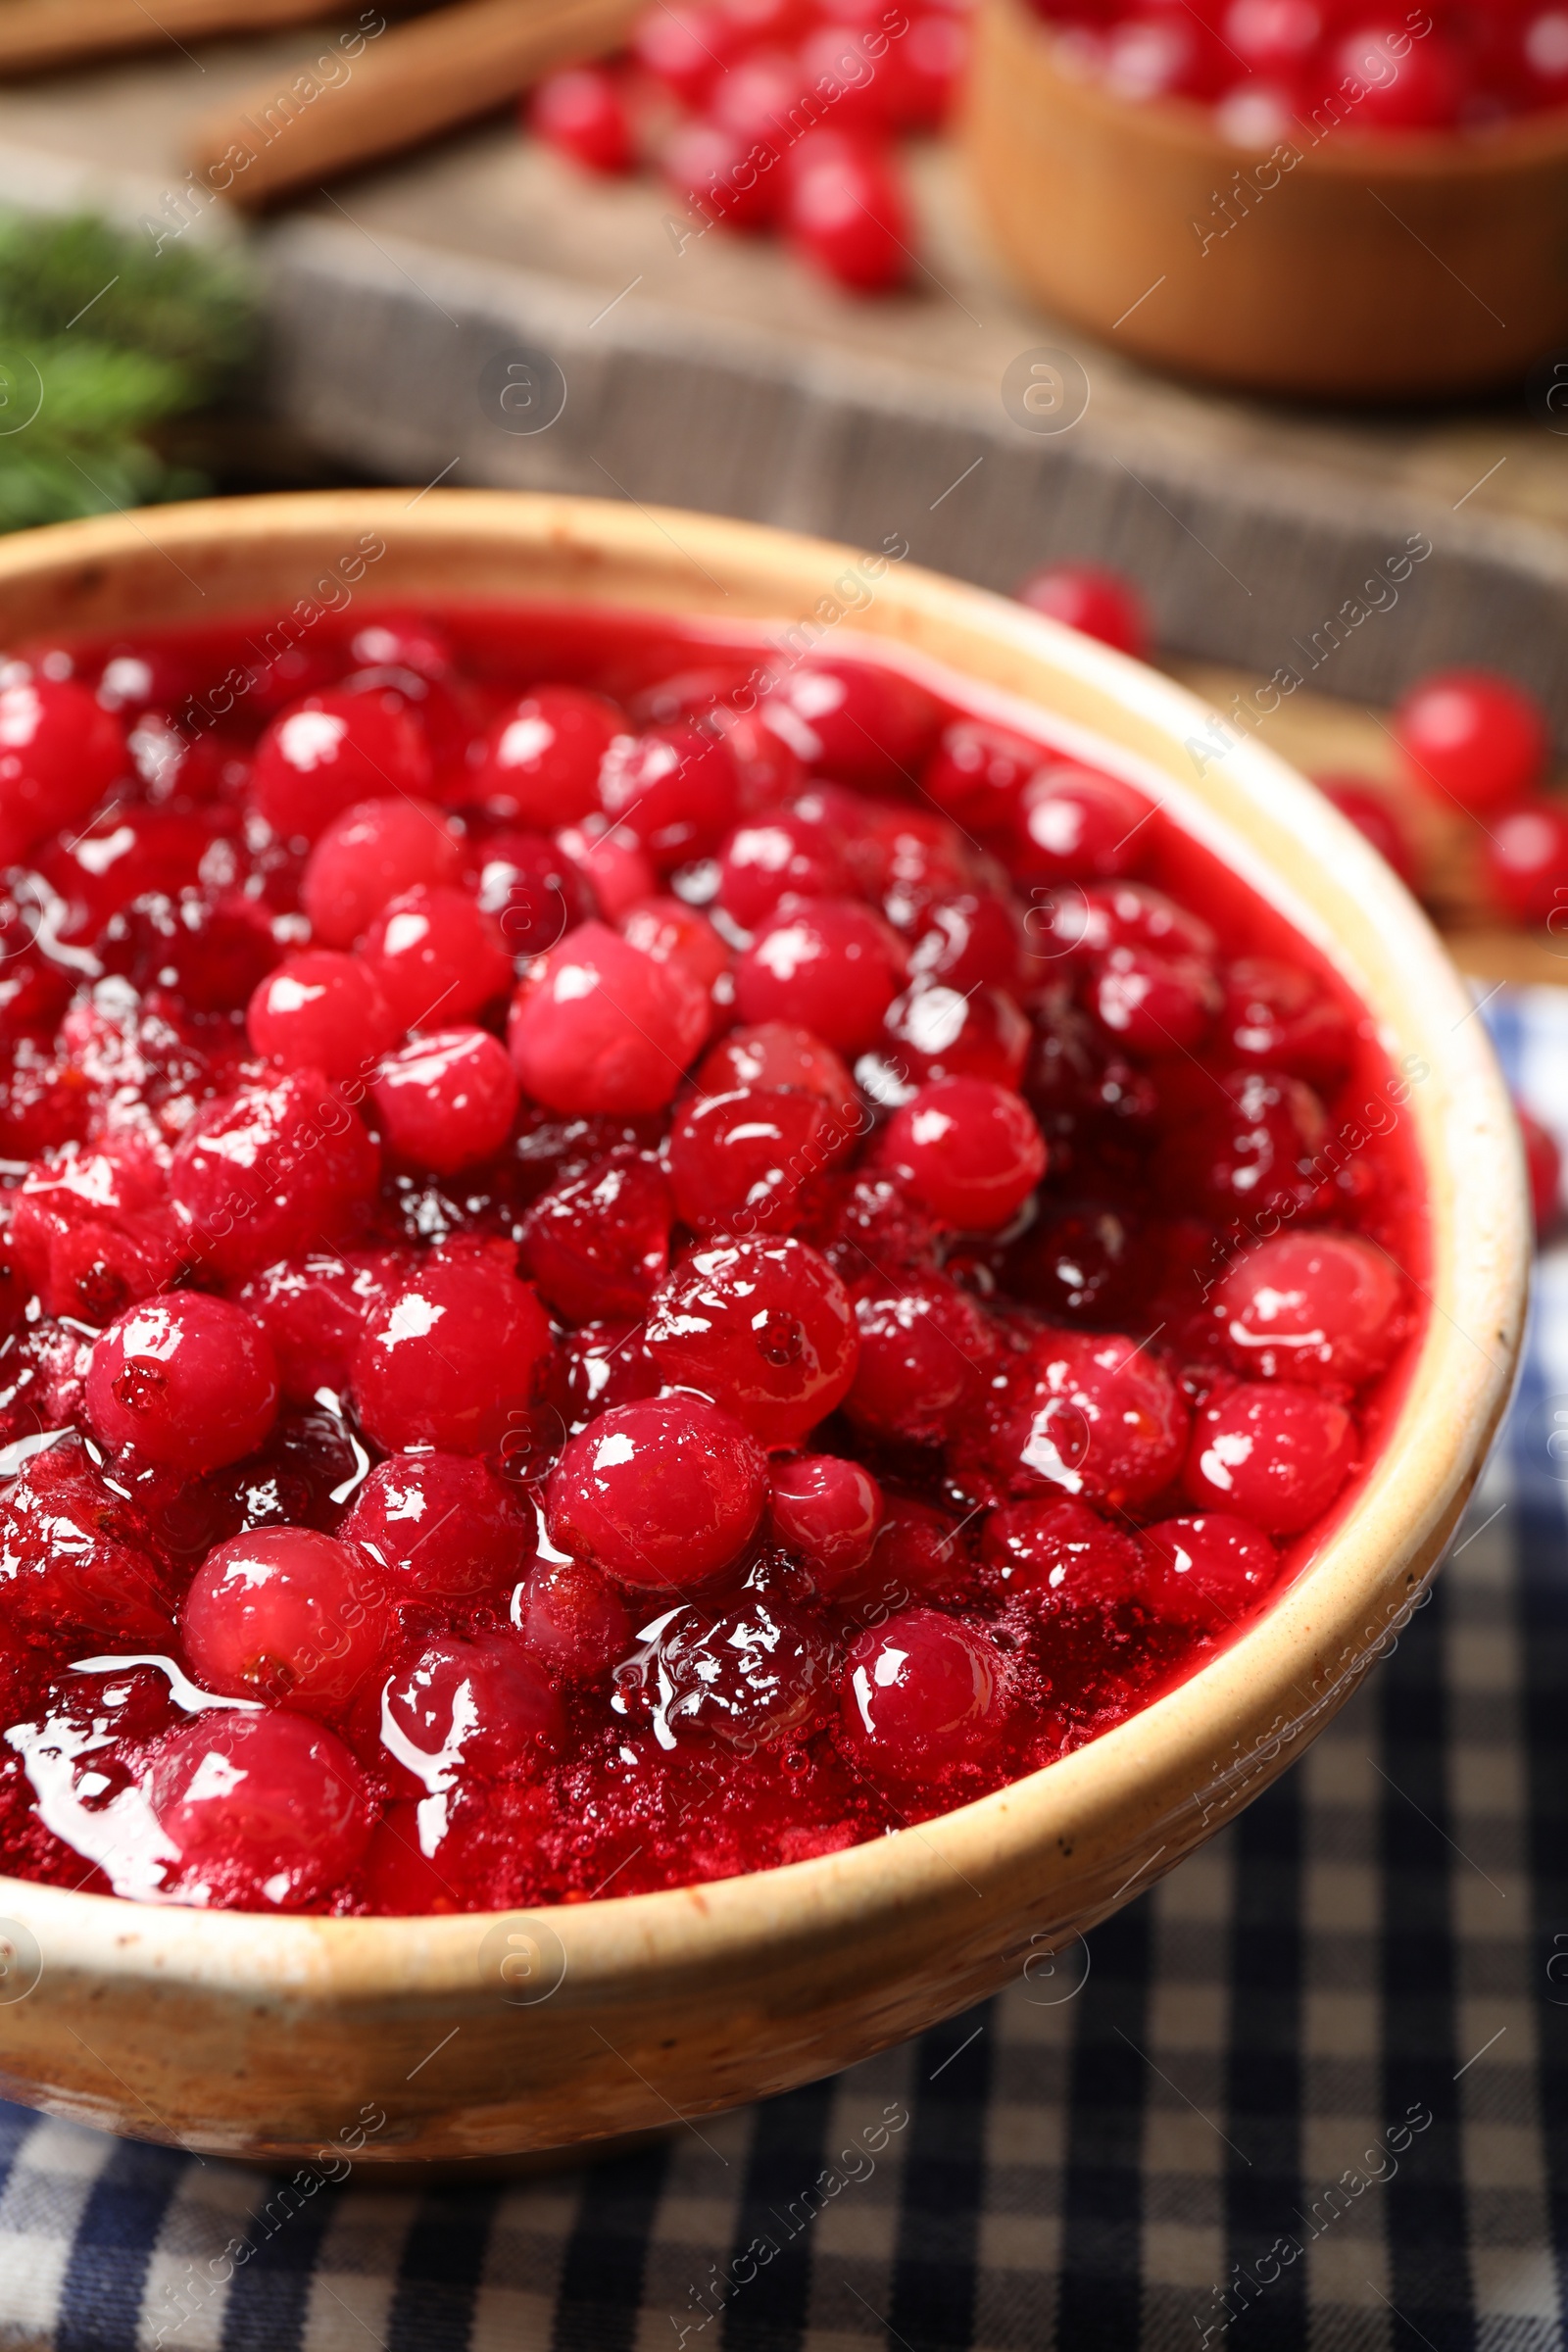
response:
[[[343,492],[5,539],[0,644],[296,604],[364,548],[383,548],[353,590],[367,602],[795,626],[797,644],[961,673],[1001,717],[1048,708],[1347,974],[1408,1073],[1399,1117],[1432,1195],[1429,1331],[1366,1486],[1232,1649],[1048,1771],[849,1853],[534,1915],[254,1917],[0,1879],[7,2098],[235,2157],[360,2131],[360,2161],[498,2157],[785,2091],[1025,1969],[1039,1980],[1053,1947],[1213,1835],[1340,1708],[1434,1571],[1509,1392],[1528,1214],[1483,1028],[1361,837],[1255,743],[1197,776],[1187,694],[1001,597],[705,515]]]

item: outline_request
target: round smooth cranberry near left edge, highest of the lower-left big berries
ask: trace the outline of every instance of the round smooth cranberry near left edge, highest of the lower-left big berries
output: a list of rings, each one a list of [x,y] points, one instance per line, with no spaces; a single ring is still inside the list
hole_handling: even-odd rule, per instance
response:
[[[216,1470],[254,1454],[277,1414],[270,1341],[242,1308],[202,1291],[146,1298],[92,1350],[87,1416],[115,1454]]]

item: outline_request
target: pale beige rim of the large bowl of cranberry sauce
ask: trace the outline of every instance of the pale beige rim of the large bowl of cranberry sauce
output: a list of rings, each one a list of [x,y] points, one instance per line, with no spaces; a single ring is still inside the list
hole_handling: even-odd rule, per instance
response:
[[[743,1962],[748,1950],[780,1936],[844,1936],[870,1915],[919,1910],[954,1870],[966,1882],[994,1879],[1048,1844],[1098,1853],[1112,1867],[1119,1849],[1145,1846],[1150,1823],[1166,1818],[1150,1813],[1140,1790],[1190,1783],[1192,1795],[1178,1806],[1182,1820],[1190,1804],[1201,1809],[1204,1825],[1215,1811],[1225,1818],[1279,1769],[1286,1745],[1342,1703],[1418,1606],[1512,1390],[1530,1254],[1523,1157],[1476,1007],[1427,917],[1347,818],[1279,757],[1248,736],[1215,753],[1220,722],[1187,689],[1023,604],[910,564],[907,541],[905,557],[872,557],[764,524],[543,492],[430,489],[414,499],[386,489],[289,492],[14,534],[0,541],[0,609],[45,586],[75,614],[49,628],[101,633],[92,600],[108,576],[129,567],[165,581],[148,569],[153,548],[207,612],[165,581],[167,609],[148,614],[146,626],[259,612],[263,600],[235,593],[247,550],[317,562],[322,546],[341,546],[355,529],[381,536],[409,574],[440,569],[458,548],[487,562],[531,557],[552,574],[543,586],[529,581],[534,602],[646,612],[635,590],[644,581],[668,597],[654,609],[719,626],[766,616],[790,626],[823,583],[842,583],[856,567],[865,576],[879,562],[872,600],[830,623],[846,633],[846,652],[860,640],[860,649],[924,666],[924,640],[940,633],[945,642],[961,640],[964,659],[990,668],[990,680],[976,682],[959,652],[936,663],[964,675],[971,691],[978,684],[983,701],[990,696],[999,708],[1034,701],[1067,727],[1114,713],[1124,722],[1121,739],[1112,739],[1124,746],[1121,764],[1128,750],[1147,753],[1182,823],[1248,880],[1267,875],[1276,903],[1368,1002],[1385,1042],[1401,1042],[1425,1063],[1403,1101],[1429,1192],[1427,1331],[1373,1470],[1269,1611],[1124,1724],[952,1813],[806,1863],[538,1907],[527,1917],[557,1938],[578,1985],[592,1987],[649,1966],[672,1969],[693,1938],[710,1959],[717,1950]],[[216,593],[186,564],[205,572]],[[386,597],[378,581],[369,602],[421,597],[416,586],[395,586],[397,564],[388,567]],[[703,581],[733,600],[729,614],[712,609]],[[522,588],[520,579],[512,593],[527,602]],[[451,588],[425,588],[423,597],[463,602]],[[468,597],[503,600],[503,590],[489,588]],[[1206,774],[1192,746],[1208,746],[1218,776]],[[1316,898],[1305,898],[1291,880],[1291,858],[1302,856]],[[1281,1708],[1288,1693],[1295,1715]],[[1251,1729],[1251,1743],[1237,1738],[1234,1752],[1220,1745],[1215,1755],[1215,1724],[1220,1740],[1232,1726],[1244,1736]],[[1140,1828],[1128,1832],[1128,1823]],[[1192,1842],[1182,1844],[1173,1830],[1171,1863]],[[1150,1884],[1150,1870],[1152,1863],[1135,1877]],[[186,1978],[230,1992],[289,1985],[301,1999],[400,2006],[473,1992],[477,1945],[496,1922],[520,1917],[209,1912],[14,1877],[0,1877],[0,1910],[19,1912],[56,1957],[85,1971],[158,1978],[165,1987]]]

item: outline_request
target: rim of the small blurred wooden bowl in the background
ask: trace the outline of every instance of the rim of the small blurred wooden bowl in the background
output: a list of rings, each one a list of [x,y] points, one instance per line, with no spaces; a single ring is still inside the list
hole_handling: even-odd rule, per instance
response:
[[[1051,78],[1063,101],[1077,103],[1084,115],[1105,129],[1121,129],[1128,136],[1145,136],[1150,146],[1164,146],[1199,155],[1206,165],[1229,165],[1246,169],[1248,162],[1267,162],[1281,146],[1295,146],[1288,132],[1272,146],[1237,146],[1213,127],[1213,108],[1201,99],[1119,99],[1091,80],[1065,73],[1053,56],[1048,26],[1034,14],[1030,0],[980,0],[980,16],[1006,19],[1030,40],[1032,59]],[[1300,132],[1300,118],[1293,118]],[[1291,169],[1305,169],[1324,179],[1389,179],[1389,181],[1467,181],[1528,179],[1544,165],[1568,160],[1568,106],[1540,108],[1528,115],[1507,115],[1502,122],[1472,132],[1380,132],[1366,136],[1338,136],[1338,125],[1324,132],[1312,146],[1298,148]]]

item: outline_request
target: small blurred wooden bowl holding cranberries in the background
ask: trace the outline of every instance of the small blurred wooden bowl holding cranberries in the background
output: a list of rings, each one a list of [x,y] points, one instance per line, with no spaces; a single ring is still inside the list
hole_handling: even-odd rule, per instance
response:
[[[1305,125],[1286,165],[1208,108],[1063,73],[1027,0],[980,0],[961,139],[1030,292],[1180,374],[1427,400],[1568,343],[1563,115],[1465,139]]]

